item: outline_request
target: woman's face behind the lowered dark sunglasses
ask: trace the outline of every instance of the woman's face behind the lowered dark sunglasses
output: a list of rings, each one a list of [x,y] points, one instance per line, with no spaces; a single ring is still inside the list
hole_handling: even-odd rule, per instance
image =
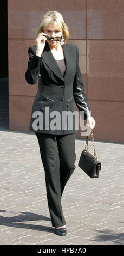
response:
[[[47,28],[44,28],[44,33],[49,35],[51,38],[55,36],[62,36],[62,29],[53,23],[50,23]],[[49,46],[56,47],[60,44],[60,41],[54,41],[53,39],[47,41]]]

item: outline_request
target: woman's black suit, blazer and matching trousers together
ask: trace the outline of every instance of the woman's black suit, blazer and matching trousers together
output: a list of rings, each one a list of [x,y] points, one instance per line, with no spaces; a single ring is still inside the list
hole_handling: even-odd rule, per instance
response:
[[[75,45],[63,45],[66,59],[66,73],[61,74],[49,45],[46,42],[43,57],[35,55],[36,46],[29,47],[28,69],[25,74],[29,84],[38,82],[38,92],[31,113],[30,130],[35,131],[40,146],[41,159],[45,171],[47,199],[53,227],[66,224],[64,220],[61,197],[64,186],[75,169],[75,130],[34,130],[32,129],[32,114],[35,111],[43,113],[45,106],[51,111],[59,111],[62,121],[62,111],[75,111],[74,100],[80,111],[84,111],[84,119],[90,115],[88,102],[84,94],[82,76],[79,69],[79,51]],[[88,114],[86,116],[86,114]],[[73,119],[74,121],[74,119]],[[43,119],[44,126],[44,119]]]

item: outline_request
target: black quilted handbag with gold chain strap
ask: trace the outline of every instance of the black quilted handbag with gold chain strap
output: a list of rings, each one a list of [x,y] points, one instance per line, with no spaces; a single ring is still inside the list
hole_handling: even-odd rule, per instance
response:
[[[97,160],[92,129],[91,129],[91,137],[92,137],[93,148],[94,148],[94,156],[88,152],[88,136],[86,136],[85,149],[83,149],[81,153],[78,165],[90,178],[99,178],[99,171],[101,170],[101,162]]]

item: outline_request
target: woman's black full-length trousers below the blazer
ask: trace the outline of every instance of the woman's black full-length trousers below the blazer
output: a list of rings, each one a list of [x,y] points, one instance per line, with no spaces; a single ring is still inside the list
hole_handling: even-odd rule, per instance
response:
[[[75,133],[53,135],[35,132],[45,171],[48,207],[53,227],[66,224],[61,197],[64,186],[75,169]]]

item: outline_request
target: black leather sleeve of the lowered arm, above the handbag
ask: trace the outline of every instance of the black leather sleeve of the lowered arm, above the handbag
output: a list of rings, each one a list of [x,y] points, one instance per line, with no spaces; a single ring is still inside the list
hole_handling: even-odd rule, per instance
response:
[[[76,73],[73,83],[73,95],[77,108],[79,109],[79,111],[84,111],[84,119],[86,119],[87,117],[90,117],[91,114],[89,112],[90,108],[88,105],[87,97],[84,93],[84,85],[82,81],[81,71],[79,68],[79,49],[77,46],[76,48]]]

